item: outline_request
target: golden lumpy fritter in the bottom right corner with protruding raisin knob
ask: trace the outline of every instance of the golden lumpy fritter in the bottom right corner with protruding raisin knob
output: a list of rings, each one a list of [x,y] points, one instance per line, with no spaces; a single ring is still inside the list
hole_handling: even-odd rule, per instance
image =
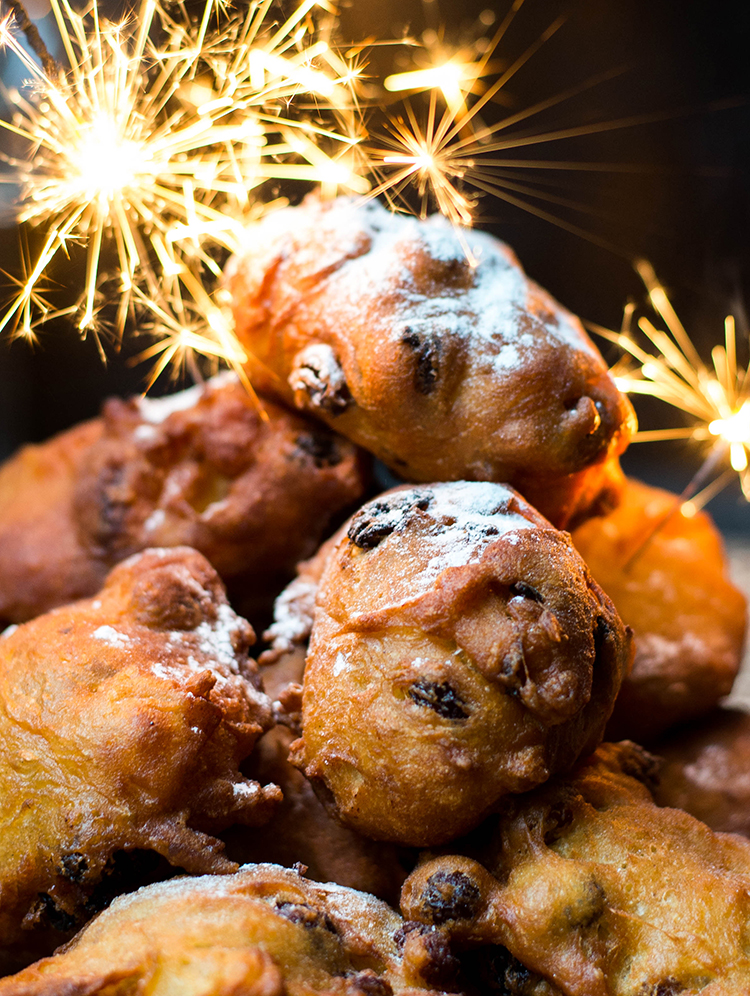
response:
[[[656,806],[643,784],[653,765],[633,744],[602,745],[510,801],[472,857],[417,868],[404,916],[457,948],[497,946],[503,975],[527,975],[510,992],[747,993],[750,841]]]

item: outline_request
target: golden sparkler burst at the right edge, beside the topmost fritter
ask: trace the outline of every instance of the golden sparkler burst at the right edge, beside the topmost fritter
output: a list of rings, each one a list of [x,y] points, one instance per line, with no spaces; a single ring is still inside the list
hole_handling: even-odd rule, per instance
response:
[[[690,501],[683,504],[686,514],[694,513],[705,505],[727,483],[732,472],[739,475],[742,493],[750,502],[750,363],[743,368],[737,360],[734,318],[729,315],[725,319],[724,345],[712,349],[712,367],[709,368],[698,354],[652,266],[640,260],[636,269],[654,310],[666,326],[665,331],[657,328],[646,316],[638,319],[638,328],[656,352],[639,345],[633,334],[633,305],[625,309],[620,332],[593,324],[589,328],[616,343],[636,360],[638,366],[635,370],[625,369],[627,364],[618,364],[613,370],[621,391],[659,398],[696,421],[685,428],[639,432],[635,441],[710,441],[711,452],[696,475],[700,480],[705,479],[728,456],[731,472],[726,472],[697,495],[691,496]]]

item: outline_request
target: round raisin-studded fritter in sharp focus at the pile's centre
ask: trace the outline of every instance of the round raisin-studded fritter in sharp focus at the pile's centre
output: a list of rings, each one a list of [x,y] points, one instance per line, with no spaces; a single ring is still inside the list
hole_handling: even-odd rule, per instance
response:
[[[569,537],[511,488],[402,488],[329,557],[290,755],[341,820],[466,833],[601,739],[629,638]]]

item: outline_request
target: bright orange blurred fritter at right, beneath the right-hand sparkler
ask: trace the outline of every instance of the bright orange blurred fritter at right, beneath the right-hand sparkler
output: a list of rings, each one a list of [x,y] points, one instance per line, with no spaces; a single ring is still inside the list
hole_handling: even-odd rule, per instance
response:
[[[633,628],[635,661],[608,738],[652,743],[708,712],[731,690],[742,662],[747,605],[729,580],[719,532],[708,515],[688,518],[677,503],[669,491],[628,480],[613,512],[573,533]]]

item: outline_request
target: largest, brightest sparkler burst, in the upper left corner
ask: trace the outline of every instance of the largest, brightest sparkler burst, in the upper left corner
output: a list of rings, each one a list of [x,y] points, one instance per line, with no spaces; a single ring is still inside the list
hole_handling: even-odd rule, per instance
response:
[[[51,317],[42,283],[73,244],[85,247],[86,275],[65,311],[83,336],[98,334],[114,277],[121,335],[137,304],[167,307],[175,278],[218,275],[216,253],[237,248],[266,181],[367,190],[348,166],[357,71],[324,37],[331,7],[302,0],[275,22],[271,4],[227,15],[222,0],[205,0],[194,20],[183,3],[141,0],[113,22],[95,3],[79,13],[52,0],[66,61],[55,73],[27,54],[10,18],[0,22],[0,44],[31,75],[23,93],[6,94],[13,115],[0,125],[25,147],[3,156],[12,172],[2,180],[19,186],[22,226],[43,233],[0,331],[32,338]],[[346,134],[321,124],[326,114],[349,122]]]

